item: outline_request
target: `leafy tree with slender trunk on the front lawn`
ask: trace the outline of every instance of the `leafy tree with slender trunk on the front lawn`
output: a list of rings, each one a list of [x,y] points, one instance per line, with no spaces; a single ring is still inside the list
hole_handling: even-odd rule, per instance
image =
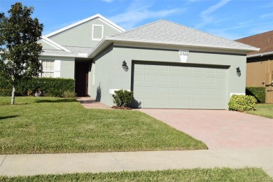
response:
[[[15,3],[8,16],[0,13],[0,76],[13,88],[11,104],[15,102],[15,89],[20,80],[36,77],[42,72],[38,61],[42,45],[37,43],[43,24],[31,18],[33,7]]]

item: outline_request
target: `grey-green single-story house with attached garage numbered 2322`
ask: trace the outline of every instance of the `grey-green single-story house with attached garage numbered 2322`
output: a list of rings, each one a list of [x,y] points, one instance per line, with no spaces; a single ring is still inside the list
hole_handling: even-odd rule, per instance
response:
[[[259,50],[159,20],[125,31],[94,15],[41,38],[42,76],[75,78],[76,93],[113,106],[134,93],[134,107],[228,109],[245,94],[246,53]]]

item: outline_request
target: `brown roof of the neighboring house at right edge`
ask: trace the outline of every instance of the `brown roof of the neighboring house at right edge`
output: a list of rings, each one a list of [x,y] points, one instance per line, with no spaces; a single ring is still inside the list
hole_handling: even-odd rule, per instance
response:
[[[247,55],[249,55],[249,57],[273,54],[273,30],[262,34],[239,38],[236,41],[260,48],[259,51],[248,52]]]

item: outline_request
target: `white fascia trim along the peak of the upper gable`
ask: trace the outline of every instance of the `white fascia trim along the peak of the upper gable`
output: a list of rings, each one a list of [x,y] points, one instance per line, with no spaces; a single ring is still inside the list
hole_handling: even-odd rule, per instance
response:
[[[118,30],[120,32],[125,31],[125,29],[123,29],[122,27],[120,27],[120,26],[116,25],[115,23],[111,22],[110,20],[104,18],[102,15],[97,14],[97,15],[93,15],[90,18],[85,18],[84,20],[80,20],[79,22],[76,22],[76,23],[74,23],[72,25],[69,25],[67,27],[64,27],[62,29],[58,29],[57,31],[53,31],[50,34],[46,34],[45,37],[50,38],[51,36],[55,36],[56,34],[62,33],[63,31],[66,31],[66,30],[69,30],[69,29],[73,29],[74,27],[77,27],[79,25],[83,25],[86,22],[89,22],[89,21],[94,20],[96,18],[101,19],[104,23],[106,23],[107,25],[113,27],[114,29],[116,29],[116,30]]]

